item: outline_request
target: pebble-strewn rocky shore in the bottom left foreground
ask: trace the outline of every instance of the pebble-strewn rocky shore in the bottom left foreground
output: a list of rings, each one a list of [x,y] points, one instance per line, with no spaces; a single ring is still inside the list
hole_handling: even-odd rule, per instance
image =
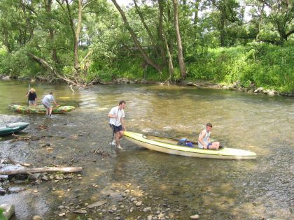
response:
[[[1,161],[1,166],[7,166],[8,161]],[[15,165],[15,166],[20,166]],[[29,191],[33,197],[46,191],[63,192],[62,205],[59,205],[53,215],[56,219],[127,219],[132,216],[134,219],[165,220],[180,219],[186,213],[186,206],[169,204],[169,200],[152,196],[141,189],[141,186],[134,186],[131,183],[114,184],[109,189],[99,191],[99,199],[96,201],[83,200],[84,191],[95,191],[99,186],[89,183],[85,189],[72,189],[74,181],[81,181],[82,174],[62,173],[36,173],[34,175],[10,175],[2,177],[1,194],[19,193]],[[43,186],[43,182],[51,182],[52,188]],[[18,191],[10,189],[10,184],[21,185]],[[76,199],[67,199],[66,192],[74,191]],[[6,219],[13,217],[15,205],[2,204]],[[204,210],[202,210],[204,212]],[[189,214],[188,214],[189,215]],[[190,219],[199,219],[200,212],[190,214]],[[1,216],[0,216],[1,217]],[[34,216],[34,220],[43,219]]]

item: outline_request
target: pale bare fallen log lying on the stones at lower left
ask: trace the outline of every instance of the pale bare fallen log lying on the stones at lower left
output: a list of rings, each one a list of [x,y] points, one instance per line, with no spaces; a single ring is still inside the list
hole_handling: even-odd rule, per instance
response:
[[[15,174],[30,174],[30,173],[49,173],[49,172],[61,172],[61,173],[76,173],[81,172],[81,167],[69,167],[69,168],[25,168],[20,170],[0,170],[0,175],[15,175]]]

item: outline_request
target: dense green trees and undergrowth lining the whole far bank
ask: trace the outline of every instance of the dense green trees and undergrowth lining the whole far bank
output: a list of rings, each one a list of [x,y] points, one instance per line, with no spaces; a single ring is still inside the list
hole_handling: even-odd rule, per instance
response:
[[[294,91],[291,0],[1,0],[0,75]]]

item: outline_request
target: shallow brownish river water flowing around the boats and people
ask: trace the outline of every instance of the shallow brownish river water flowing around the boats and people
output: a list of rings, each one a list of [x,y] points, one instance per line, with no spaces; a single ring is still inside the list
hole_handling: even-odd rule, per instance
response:
[[[10,156],[35,167],[83,166],[84,171],[80,180],[42,182],[34,186],[38,193],[28,189],[1,196],[0,203],[15,203],[17,219],[35,214],[54,218],[62,202],[94,203],[109,191],[125,191],[127,184],[132,184],[134,196],[148,195],[146,207],[180,207],[180,219],[195,213],[203,219],[290,219],[293,98],[158,85],[97,85],[73,94],[66,85],[31,85],[38,101],[52,90],[57,103],[76,107],[74,112],[48,119],[8,110],[11,103],[26,103],[27,87],[25,82],[0,81],[0,124],[29,122],[22,134],[53,138],[31,142],[3,138],[1,157]],[[123,140],[125,150],[116,152],[108,145],[112,132],[107,114],[120,100],[127,102],[129,131],[196,140],[199,131],[211,122],[215,140],[256,152],[258,158],[225,161],[174,156],[142,149],[127,140]],[[39,124],[48,129],[39,131]],[[50,151],[42,147],[47,142]],[[111,157],[102,160],[93,155],[94,149],[109,152]],[[118,203],[116,196],[109,200]],[[122,217],[136,217],[127,211],[121,213]]]

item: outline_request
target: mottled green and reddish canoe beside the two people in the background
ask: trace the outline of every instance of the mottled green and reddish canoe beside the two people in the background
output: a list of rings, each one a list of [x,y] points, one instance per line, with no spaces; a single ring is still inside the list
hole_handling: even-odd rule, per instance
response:
[[[9,105],[15,112],[23,114],[45,114],[46,109],[43,105],[27,106],[27,105]],[[75,110],[73,106],[56,106],[52,105],[52,114],[62,114]]]

